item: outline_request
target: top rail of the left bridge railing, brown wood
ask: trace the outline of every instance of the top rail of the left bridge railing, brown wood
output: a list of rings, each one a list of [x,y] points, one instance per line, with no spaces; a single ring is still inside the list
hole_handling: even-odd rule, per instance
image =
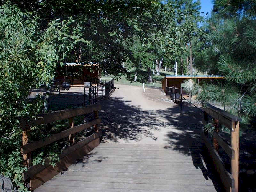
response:
[[[75,116],[91,113],[94,111],[99,111],[100,109],[101,109],[100,105],[92,105],[92,106],[86,106],[86,107],[78,107],[73,109],[54,111],[52,113],[38,115],[36,117],[36,120],[35,119],[24,120],[21,126],[25,128],[25,126],[31,127],[31,126],[41,125],[41,124],[48,124],[55,121],[68,119],[70,117],[75,117]]]

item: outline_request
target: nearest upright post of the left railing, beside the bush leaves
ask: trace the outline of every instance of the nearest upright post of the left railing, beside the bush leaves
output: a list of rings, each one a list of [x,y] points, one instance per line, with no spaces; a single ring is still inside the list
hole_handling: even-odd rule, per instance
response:
[[[25,125],[24,131],[22,132],[22,145],[26,145],[29,141],[29,127]],[[23,150],[22,150],[23,152]],[[32,160],[31,160],[31,152],[24,154],[23,153],[23,160],[24,160],[24,166],[30,167],[32,166]],[[30,178],[28,180],[25,180],[25,184],[28,188],[31,188],[31,181]]]

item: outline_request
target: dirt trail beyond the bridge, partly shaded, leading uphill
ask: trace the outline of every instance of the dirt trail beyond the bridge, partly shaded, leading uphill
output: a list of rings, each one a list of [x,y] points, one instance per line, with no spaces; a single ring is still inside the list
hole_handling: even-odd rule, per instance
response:
[[[167,98],[159,90],[142,87],[116,85],[109,100],[103,102],[100,117],[104,142],[158,144],[182,148],[197,145],[199,128],[198,109],[184,109],[173,102],[159,100]],[[152,95],[155,98],[152,98]]]

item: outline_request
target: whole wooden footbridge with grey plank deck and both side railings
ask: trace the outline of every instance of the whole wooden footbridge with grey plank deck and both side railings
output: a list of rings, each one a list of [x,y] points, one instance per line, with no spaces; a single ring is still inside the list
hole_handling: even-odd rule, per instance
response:
[[[220,173],[220,180],[214,179],[216,178],[213,176],[215,173],[213,170],[211,171],[211,163],[210,159],[206,157],[207,154],[202,152],[202,143],[195,142],[192,145],[190,143],[181,146],[187,148],[188,153],[174,150],[172,146],[157,145],[157,142],[154,145],[100,144],[101,131],[98,130],[97,125],[100,123],[98,110],[100,110],[100,105],[56,111],[23,124],[23,157],[26,162],[25,166],[28,167],[28,171],[24,172],[24,180],[31,190],[36,192],[213,192],[217,190],[220,192],[223,190],[224,184],[226,191],[238,191],[238,159],[236,159],[238,148],[235,150],[228,148],[231,153],[235,154],[231,155],[231,158],[234,159],[234,164],[232,160],[234,175],[233,171],[231,175],[224,170],[223,162],[218,159],[218,155],[215,157],[216,151],[210,147],[210,156],[215,154],[213,162]],[[227,118],[228,116],[227,114],[224,114],[226,115],[224,117],[221,116],[221,111],[212,112],[211,107],[207,108],[206,111],[214,118],[221,118],[221,122],[224,121],[224,117]],[[94,113],[94,120],[74,126],[74,117],[86,113]],[[67,118],[70,122],[69,129],[39,141],[28,142],[29,127]],[[231,120],[228,119],[228,125],[234,120],[239,119],[234,119],[232,116]],[[94,125],[95,133],[75,143],[74,134],[92,125]],[[233,129],[235,130],[235,128]],[[237,130],[239,127],[236,128],[236,136]],[[32,166],[32,151],[67,136],[69,136],[70,147],[59,154],[60,162],[55,167],[49,164],[49,160],[46,160],[44,165]],[[205,135],[203,138],[206,140]],[[221,141],[221,146],[225,146],[223,140],[218,140]],[[235,142],[237,144],[237,138]],[[216,149],[216,141],[214,144]],[[209,148],[209,142],[206,146]],[[237,147],[237,145],[232,143],[232,147]],[[217,163],[215,162],[216,158]],[[226,181],[227,183],[225,183]]]

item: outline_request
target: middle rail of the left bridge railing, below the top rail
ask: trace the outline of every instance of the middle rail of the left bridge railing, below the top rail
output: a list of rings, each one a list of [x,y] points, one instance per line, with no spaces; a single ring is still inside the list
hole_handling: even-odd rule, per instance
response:
[[[95,124],[99,124],[100,122],[101,122],[100,118],[95,119],[95,120],[92,120],[88,123],[84,123],[84,124],[81,124],[81,125],[78,125],[78,126],[75,126],[75,127],[71,127],[69,129],[66,129],[62,132],[56,133],[54,135],[51,135],[50,137],[41,139],[39,141],[34,141],[32,143],[27,143],[26,145],[23,145],[23,153],[26,154],[26,153],[34,151],[38,148],[44,147],[44,146],[46,146],[46,145],[48,145],[48,144],[50,144],[54,141],[60,140],[64,137],[68,137],[71,134],[82,131],[86,128],[89,128],[89,127],[95,125]]]

